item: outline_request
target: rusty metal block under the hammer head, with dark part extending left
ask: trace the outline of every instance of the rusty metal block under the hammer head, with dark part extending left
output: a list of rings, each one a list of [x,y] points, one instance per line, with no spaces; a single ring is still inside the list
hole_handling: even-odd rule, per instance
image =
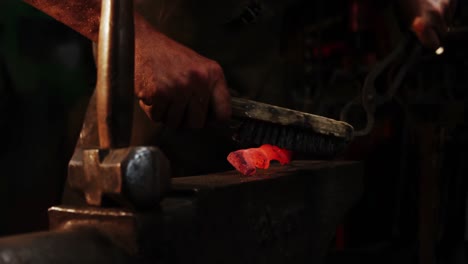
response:
[[[49,209],[50,231],[0,239],[0,263],[135,263],[135,216],[127,210]]]

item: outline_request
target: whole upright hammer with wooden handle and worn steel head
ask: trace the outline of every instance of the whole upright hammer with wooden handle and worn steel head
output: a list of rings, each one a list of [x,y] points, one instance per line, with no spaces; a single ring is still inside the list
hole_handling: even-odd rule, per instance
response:
[[[170,187],[170,166],[156,147],[129,147],[133,114],[133,1],[103,0],[97,84],[80,140],[68,167],[68,184],[86,202],[102,195],[130,207],[153,207]],[[94,107],[95,106],[95,107]],[[97,127],[97,142],[92,131]]]

